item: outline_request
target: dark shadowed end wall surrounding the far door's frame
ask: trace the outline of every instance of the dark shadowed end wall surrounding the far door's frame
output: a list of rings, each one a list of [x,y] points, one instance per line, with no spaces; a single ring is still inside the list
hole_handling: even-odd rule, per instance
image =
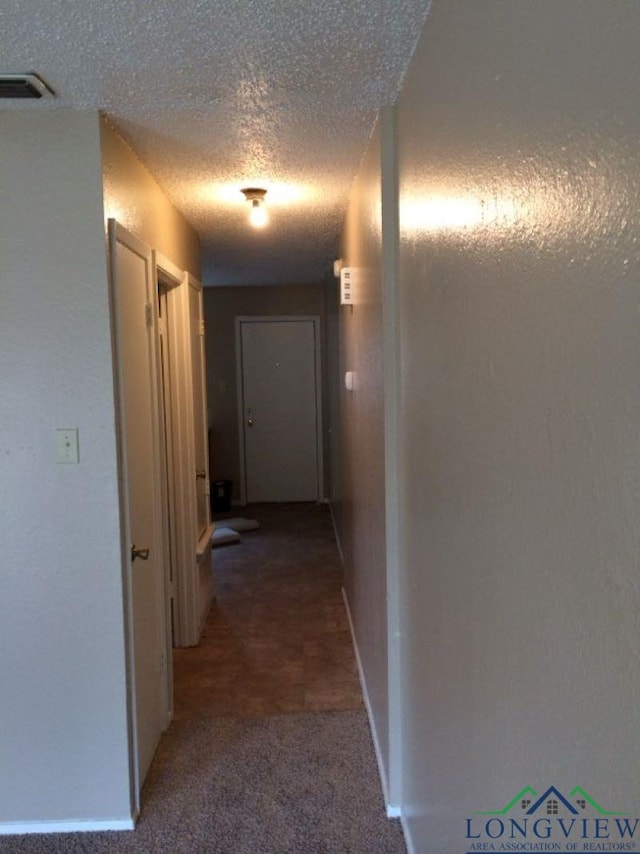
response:
[[[212,430],[211,474],[233,481],[239,497],[240,458],[236,382],[235,318],[242,315],[317,315],[325,340],[325,292],[322,286],[205,288],[207,396]],[[322,364],[325,375],[323,347]],[[323,397],[326,397],[323,392]],[[326,413],[327,407],[324,406]],[[326,448],[325,435],[325,448]],[[326,460],[325,460],[326,463]]]

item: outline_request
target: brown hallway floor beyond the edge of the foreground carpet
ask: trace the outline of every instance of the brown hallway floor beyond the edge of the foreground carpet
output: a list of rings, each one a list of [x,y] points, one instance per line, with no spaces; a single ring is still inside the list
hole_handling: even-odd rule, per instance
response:
[[[175,719],[363,709],[328,507],[238,513],[260,529],[214,550],[201,645],[174,651]]]

